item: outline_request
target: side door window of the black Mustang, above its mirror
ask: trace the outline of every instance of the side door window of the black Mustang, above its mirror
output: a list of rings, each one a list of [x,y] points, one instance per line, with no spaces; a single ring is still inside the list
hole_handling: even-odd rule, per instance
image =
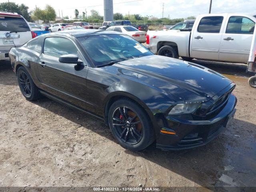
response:
[[[77,54],[74,43],[62,37],[48,37],[44,40],[44,54],[59,58],[66,54]]]

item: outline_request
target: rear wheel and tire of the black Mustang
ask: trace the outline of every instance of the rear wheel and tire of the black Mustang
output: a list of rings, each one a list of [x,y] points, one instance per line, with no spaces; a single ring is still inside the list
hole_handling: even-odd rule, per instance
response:
[[[20,91],[27,100],[32,101],[40,98],[38,88],[24,67],[18,68],[17,78]]]

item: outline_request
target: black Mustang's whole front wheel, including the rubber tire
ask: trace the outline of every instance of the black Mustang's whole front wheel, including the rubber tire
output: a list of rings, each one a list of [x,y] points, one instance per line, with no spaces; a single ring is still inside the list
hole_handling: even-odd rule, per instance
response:
[[[108,112],[108,124],[118,143],[129,150],[139,151],[154,142],[154,129],[145,110],[129,99],[120,99]]]

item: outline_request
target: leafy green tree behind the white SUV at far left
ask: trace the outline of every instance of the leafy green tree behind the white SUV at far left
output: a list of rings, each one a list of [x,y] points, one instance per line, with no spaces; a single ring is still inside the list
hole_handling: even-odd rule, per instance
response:
[[[20,5],[14,2],[0,3],[0,10],[5,12],[15,12],[22,15],[26,20],[28,21],[31,20],[31,17],[30,17],[31,12],[28,12],[28,6],[26,6],[23,3]]]

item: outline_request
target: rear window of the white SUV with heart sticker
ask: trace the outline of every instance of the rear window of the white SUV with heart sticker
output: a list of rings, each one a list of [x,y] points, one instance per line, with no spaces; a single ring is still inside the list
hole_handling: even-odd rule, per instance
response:
[[[0,16],[0,31],[30,31],[30,29],[22,17]]]

